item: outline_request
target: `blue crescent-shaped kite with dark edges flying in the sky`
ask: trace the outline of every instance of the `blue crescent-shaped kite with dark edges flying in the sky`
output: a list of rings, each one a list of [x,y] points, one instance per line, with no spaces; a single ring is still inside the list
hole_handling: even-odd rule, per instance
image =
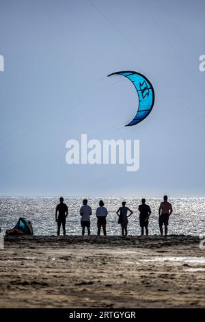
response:
[[[150,114],[154,106],[154,88],[150,81],[144,75],[137,73],[136,71],[118,71],[108,76],[111,75],[122,75],[130,79],[135,86],[139,97],[137,114],[133,121],[125,126],[132,126],[143,121],[143,119]]]

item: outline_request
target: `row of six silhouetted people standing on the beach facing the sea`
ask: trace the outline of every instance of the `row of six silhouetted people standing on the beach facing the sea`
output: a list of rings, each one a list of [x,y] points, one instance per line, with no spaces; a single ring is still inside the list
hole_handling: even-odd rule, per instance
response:
[[[161,236],[163,236],[163,225],[165,227],[165,236],[167,236],[168,225],[169,225],[169,216],[172,214],[172,204],[167,201],[168,197],[164,196],[164,201],[161,202],[159,206],[159,230]],[[57,235],[60,234],[61,225],[63,227],[64,236],[66,235],[66,217],[68,216],[68,206],[64,203],[64,198],[59,198],[60,203],[57,205],[55,210],[55,221],[57,222]],[[148,235],[148,225],[151,209],[150,206],[146,204],[146,199],[141,199],[141,205],[138,207],[139,210],[139,225],[141,227],[141,235],[146,231]],[[87,205],[87,199],[83,199],[83,206],[80,209],[81,215],[81,227],[82,235],[85,235],[85,227],[87,228],[87,234],[90,235],[90,216],[92,215],[92,208]],[[98,236],[100,236],[100,230],[102,227],[103,234],[106,235],[106,218],[107,218],[107,208],[104,206],[104,202],[100,200],[99,207],[96,209],[96,217],[98,219]],[[122,228],[122,236],[127,235],[127,226],[128,226],[128,217],[133,214],[133,210],[126,207],[126,201],[122,201],[122,207],[116,212],[118,214],[118,224]]]

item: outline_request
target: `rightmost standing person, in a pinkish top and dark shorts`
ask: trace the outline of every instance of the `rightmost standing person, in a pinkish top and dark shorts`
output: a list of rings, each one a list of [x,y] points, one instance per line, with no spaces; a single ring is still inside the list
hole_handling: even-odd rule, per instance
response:
[[[169,216],[172,214],[172,205],[167,201],[168,197],[164,196],[164,201],[161,202],[159,207],[159,230],[161,236],[163,236],[163,225],[165,225],[165,236],[167,236]]]

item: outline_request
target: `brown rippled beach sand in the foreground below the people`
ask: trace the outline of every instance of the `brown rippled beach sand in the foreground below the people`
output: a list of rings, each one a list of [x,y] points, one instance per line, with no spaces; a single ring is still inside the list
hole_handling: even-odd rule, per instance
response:
[[[5,237],[1,308],[202,308],[197,236]]]

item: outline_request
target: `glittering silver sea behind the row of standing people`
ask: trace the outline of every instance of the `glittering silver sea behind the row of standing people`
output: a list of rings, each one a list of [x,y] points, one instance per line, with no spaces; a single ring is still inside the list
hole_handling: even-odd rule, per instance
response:
[[[116,211],[122,201],[133,210],[133,215],[128,218],[128,234],[139,235],[139,211],[138,206],[141,198],[137,197],[86,197],[92,207],[91,234],[97,232],[96,208],[102,199],[108,210],[107,234],[120,235],[120,225]],[[81,234],[81,216],[79,210],[84,197],[65,197],[64,202],[68,205],[68,218],[66,220],[66,234]],[[158,209],[163,201],[161,198],[147,198],[146,203],[150,206],[152,214],[149,222],[149,234],[159,234]],[[205,198],[173,198],[173,213],[169,218],[169,234],[205,235]],[[33,234],[56,235],[57,224],[55,222],[55,207],[59,203],[58,197],[0,197],[0,227],[3,232],[16,225],[19,217],[31,221]],[[61,232],[62,234],[62,232]]]

